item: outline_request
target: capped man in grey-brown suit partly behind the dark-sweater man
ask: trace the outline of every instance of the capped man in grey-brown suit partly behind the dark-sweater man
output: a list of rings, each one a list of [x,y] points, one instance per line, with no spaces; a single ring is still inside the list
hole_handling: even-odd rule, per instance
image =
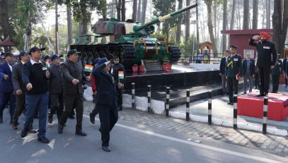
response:
[[[16,95],[16,109],[12,122],[12,128],[14,130],[18,129],[18,117],[25,110],[25,85],[22,80],[22,69],[24,64],[29,61],[28,52],[23,51],[18,55],[18,57],[21,59],[21,61],[18,64],[12,66],[12,83],[14,88],[13,93]],[[33,129],[32,123],[33,120],[31,121],[28,132],[37,133],[37,131]]]

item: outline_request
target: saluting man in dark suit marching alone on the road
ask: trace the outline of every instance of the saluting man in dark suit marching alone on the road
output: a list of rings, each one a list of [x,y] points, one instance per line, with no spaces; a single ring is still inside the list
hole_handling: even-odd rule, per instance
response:
[[[98,61],[98,65],[93,70],[96,82],[96,107],[99,111],[102,149],[110,152],[109,140],[110,131],[118,120],[116,85],[110,71],[110,61],[103,58]]]

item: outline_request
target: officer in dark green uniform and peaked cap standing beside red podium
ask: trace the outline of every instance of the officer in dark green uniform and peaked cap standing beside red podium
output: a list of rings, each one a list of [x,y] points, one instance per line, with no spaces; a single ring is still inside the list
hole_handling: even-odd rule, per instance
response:
[[[238,95],[238,81],[243,74],[242,57],[236,54],[237,47],[230,46],[230,56],[228,56],[226,64],[226,79],[228,80],[229,102],[234,104],[233,95]]]

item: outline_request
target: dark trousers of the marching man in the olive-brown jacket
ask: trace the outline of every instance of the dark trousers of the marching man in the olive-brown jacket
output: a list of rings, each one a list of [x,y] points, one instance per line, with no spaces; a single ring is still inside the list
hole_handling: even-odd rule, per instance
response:
[[[83,99],[82,94],[76,95],[65,95],[64,94],[65,109],[61,116],[59,125],[64,126],[67,122],[68,116],[75,108],[76,110],[76,131],[82,130],[82,119],[83,119]]]

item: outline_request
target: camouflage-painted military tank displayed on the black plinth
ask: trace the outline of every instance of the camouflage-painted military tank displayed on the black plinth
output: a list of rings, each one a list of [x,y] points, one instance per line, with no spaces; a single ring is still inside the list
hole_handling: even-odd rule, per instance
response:
[[[77,37],[70,48],[81,52],[79,59],[83,64],[92,64],[94,59],[101,56],[108,59],[119,56],[125,69],[131,69],[132,65],[139,65],[142,60],[149,59],[159,61],[160,64],[163,64],[163,61],[173,64],[180,59],[180,48],[166,43],[163,39],[150,37],[155,32],[154,24],[196,6],[197,4],[187,6],[144,24],[134,23],[134,20],[120,22],[115,18],[100,19],[92,26],[95,34]]]

